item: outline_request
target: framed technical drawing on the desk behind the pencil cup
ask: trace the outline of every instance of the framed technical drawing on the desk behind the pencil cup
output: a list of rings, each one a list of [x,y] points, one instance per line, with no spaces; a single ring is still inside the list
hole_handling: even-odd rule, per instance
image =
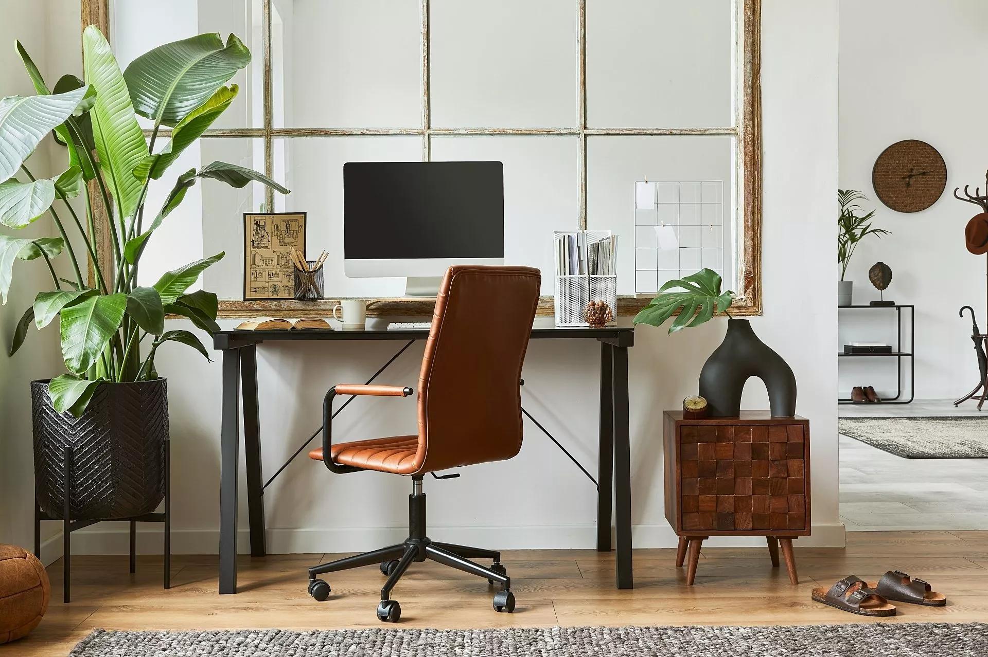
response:
[[[291,249],[305,253],[304,212],[244,212],[244,300],[294,297]]]

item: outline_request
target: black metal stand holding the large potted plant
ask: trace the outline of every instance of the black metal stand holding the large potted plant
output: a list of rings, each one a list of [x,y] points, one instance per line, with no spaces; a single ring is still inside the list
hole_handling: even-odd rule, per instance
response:
[[[35,556],[41,558],[41,521],[57,520],[62,523],[62,599],[69,602],[69,585],[72,572],[71,558],[71,537],[72,532],[80,530],[90,525],[103,522],[124,522],[130,523],[130,572],[137,570],[137,523],[164,523],[164,587],[171,588],[171,529],[172,529],[172,502],[171,502],[171,441],[165,440],[165,511],[164,513],[145,513],[142,516],[131,518],[109,518],[100,520],[72,520],[69,517],[70,503],[72,501],[72,448],[65,448],[65,496],[62,502],[62,517],[52,518],[41,510],[38,501],[35,501]]]

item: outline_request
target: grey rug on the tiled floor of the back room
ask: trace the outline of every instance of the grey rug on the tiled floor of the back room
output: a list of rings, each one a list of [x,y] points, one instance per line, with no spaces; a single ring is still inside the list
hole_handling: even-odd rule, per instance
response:
[[[988,417],[841,417],[838,430],[903,459],[988,459]]]

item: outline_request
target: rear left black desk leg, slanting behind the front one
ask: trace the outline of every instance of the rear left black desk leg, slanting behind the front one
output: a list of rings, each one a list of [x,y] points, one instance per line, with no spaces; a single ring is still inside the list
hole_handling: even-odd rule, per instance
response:
[[[257,402],[257,346],[240,347],[243,382],[244,463],[247,466],[247,517],[250,520],[250,555],[264,556],[264,479],[261,469],[261,420]]]

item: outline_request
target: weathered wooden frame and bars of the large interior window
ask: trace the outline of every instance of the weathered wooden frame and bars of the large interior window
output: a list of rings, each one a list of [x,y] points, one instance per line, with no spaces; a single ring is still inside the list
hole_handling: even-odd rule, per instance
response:
[[[283,137],[334,137],[354,135],[418,135],[422,138],[422,159],[429,161],[433,135],[543,135],[576,136],[579,138],[579,227],[587,227],[587,138],[595,135],[656,136],[656,135],[731,135],[737,139],[736,214],[741,221],[740,239],[736,239],[738,252],[736,286],[737,298],[731,306],[731,315],[754,316],[762,314],[762,90],[761,90],[761,17],[762,0],[735,0],[741,13],[741,29],[736,44],[738,70],[736,84],[740,93],[735,97],[735,126],[709,128],[608,128],[587,126],[586,84],[586,2],[573,0],[577,5],[577,58],[578,125],[562,128],[498,128],[466,127],[437,128],[432,126],[430,115],[430,0],[420,0],[422,16],[422,125],[397,128],[305,128],[274,127],[272,115],[271,75],[271,0],[262,0],[262,94],[264,96],[264,123],[259,128],[211,128],[204,138],[251,137],[264,140],[264,173],[274,172],[274,140]],[[111,0],[81,0],[82,28],[96,25],[107,38],[110,37],[109,8]],[[737,27],[735,26],[735,30]],[[148,131],[149,132],[149,131]],[[160,136],[168,136],[168,130],[159,130]],[[98,197],[98,194],[95,196]],[[265,187],[266,207],[274,207],[274,190]],[[102,267],[113,268],[109,236],[105,228],[106,214],[96,217],[97,257]],[[92,267],[90,267],[92,269]],[[92,271],[90,272],[92,279]],[[621,296],[617,300],[618,315],[634,315],[648,304],[653,295]],[[325,316],[337,304],[337,299],[323,301],[219,301],[220,317],[266,316]],[[368,314],[371,316],[428,317],[432,315],[433,299],[380,299],[371,300]],[[539,315],[553,314],[553,297],[543,296],[538,304]]]

